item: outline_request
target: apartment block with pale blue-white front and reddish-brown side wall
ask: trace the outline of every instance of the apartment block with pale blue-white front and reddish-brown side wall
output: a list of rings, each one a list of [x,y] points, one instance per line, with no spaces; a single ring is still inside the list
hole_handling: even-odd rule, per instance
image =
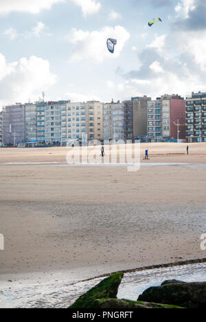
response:
[[[148,142],[185,140],[185,100],[179,95],[163,95],[148,102],[147,126]]]

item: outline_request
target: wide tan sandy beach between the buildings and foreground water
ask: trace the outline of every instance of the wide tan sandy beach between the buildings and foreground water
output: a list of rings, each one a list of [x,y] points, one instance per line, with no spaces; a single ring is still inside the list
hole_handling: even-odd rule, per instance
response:
[[[190,155],[186,145],[141,144],[141,162],[206,164],[206,144],[189,144]],[[83,279],[206,257],[206,168],[2,165],[65,162],[66,153],[0,149],[0,281],[62,270]]]

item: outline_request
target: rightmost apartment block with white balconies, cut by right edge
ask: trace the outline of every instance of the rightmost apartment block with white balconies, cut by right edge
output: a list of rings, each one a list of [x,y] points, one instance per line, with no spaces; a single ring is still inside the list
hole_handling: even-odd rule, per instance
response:
[[[206,92],[186,98],[187,142],[206,142]]]

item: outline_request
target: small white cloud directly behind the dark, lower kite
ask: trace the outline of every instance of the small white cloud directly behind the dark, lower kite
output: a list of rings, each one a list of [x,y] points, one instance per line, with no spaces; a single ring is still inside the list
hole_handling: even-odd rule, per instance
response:
[[[108,38],[117,39],[115,53],[111,54],[106,48]],[[92,58],[95,61],[102,62],[104,58],[116,58],[122,52],[130,34],[124,27],[117,25],[105,27],[100,31],[83,31],[73,28],[71,34],[67,36],[67,41],[73,44],[73,52],[70,56],[70,62],[78,62],[84,59]]]

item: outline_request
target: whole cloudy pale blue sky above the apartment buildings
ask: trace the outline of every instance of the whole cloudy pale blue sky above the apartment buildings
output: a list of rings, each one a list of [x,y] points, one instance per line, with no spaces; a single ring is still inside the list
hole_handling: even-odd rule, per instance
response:
[[[1,0],[0,110],[206,91],[205,16],[205,0]]]

